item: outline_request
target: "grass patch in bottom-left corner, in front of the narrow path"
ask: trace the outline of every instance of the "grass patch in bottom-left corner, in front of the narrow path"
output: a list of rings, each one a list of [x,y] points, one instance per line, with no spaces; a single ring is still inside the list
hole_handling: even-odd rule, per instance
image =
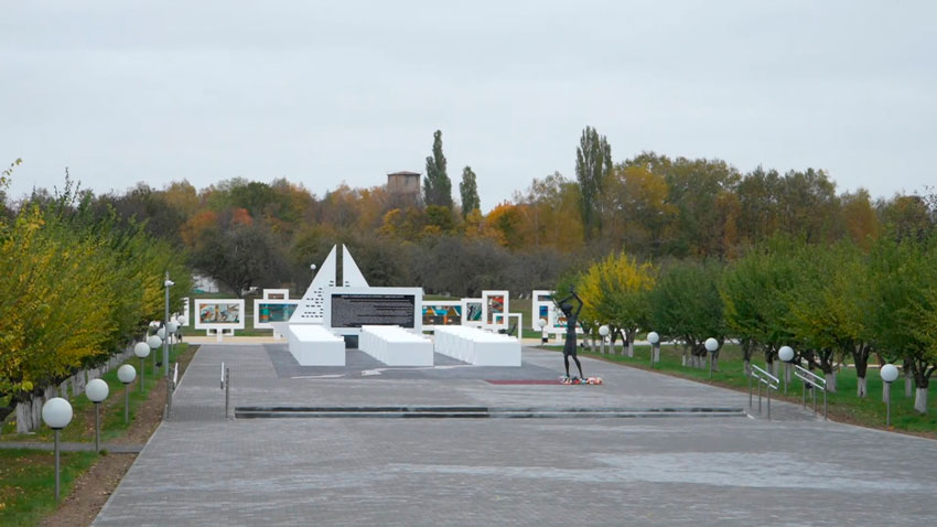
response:
[[[97,460],[94,452],[62,452],[62,498]],[[55,458],[36,450],[0,450],[0,525],[35,525],[55,510]]]

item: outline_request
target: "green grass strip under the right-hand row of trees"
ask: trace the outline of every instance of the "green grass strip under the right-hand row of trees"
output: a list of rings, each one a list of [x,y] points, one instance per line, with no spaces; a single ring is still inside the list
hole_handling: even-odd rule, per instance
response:
[[[561,346],[547,346],[547,349],[561,351]],[[742,352],[739,346],[726,344],[720,352],[719,370],[713,372],[712,380],[709,379],[709,365],[703,369],[694,369],[681,364],[681,348],[676,346],[665,345],[660,348],[660,362],[654,366],[655,370],[682,377],[700,383],[708,383],[728,388],[740,390],[748,390],[748,378],[743,373]],[[650,368],[650,346],[635,346],[634,358],[628,358],[621,355],[621,347],[617,348],[617,354],[601,355],[591,353],[580,348],[580,355],[604,358],[606,361],[622,363],[632,367],[649,369]],[[753,363],[762,368],[765,368],[764,356],[755,354]],[[791,376],[791,383],[788,386],[788,395],[784,395],[784,380],[782,378],[782,387],[779,392],[772,394],[772,398],[787,400],[799,404],[801,400],[803,387],[800,380]],[[859,398],[855,395],[858,379],[855,369],[846,367],[837,374],[837,392],[827,394],[829,417],[838,421],[850,422],[869,428],[885,428],[885,404],[882,402],[882,379],[879,377],[876,368],[869,368],[866,377],[869,395],[865,398]],[[937,389],[931,388],[928,394],[928,409],[930,413],[922,416],[914,411],[914,397],[905,397],[904,379],[898,378],[892,386],[892,430],[918,433],[927,437],[937,437]],[[810,407],[810,394],[808,397],[808,407]],[[818,411],[822,412],[822,394],[818,394],[817,398]]]

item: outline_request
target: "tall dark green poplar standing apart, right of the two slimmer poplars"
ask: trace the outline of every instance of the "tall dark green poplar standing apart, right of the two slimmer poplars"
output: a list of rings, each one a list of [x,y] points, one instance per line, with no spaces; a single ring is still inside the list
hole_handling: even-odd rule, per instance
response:
[[[605,136],[592,127],[582,130],[575,149],[575,179],[579,182],[580,214],[585,239],[594,239],[602,230],[601,195],[612,172],[612,147]]]

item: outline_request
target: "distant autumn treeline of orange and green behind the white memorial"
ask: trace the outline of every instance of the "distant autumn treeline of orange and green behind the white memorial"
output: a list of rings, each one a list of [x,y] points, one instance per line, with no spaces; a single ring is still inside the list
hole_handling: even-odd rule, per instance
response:
[[[163,189],[141,182],[122,194],[82,191],[77,206],[93,216],[115,213],[127,225],[143,223],[236,294],[281,286],[302,292],[310,264],[320,264],[336,243],[349,246],[374,286],[526,295],[622,250],[639,260],[732,261],[778,234],[808,244],[849,239],[868,249],[884,234],[923,239],[937,224],[933,193],[838,193],[817,169],[742,173],[718,159],[654,152],[614,161],[605,137],[592,128],[583,131],[575,154],[573,176],[532,178],[487,214],[480,209],[477,186],[497,183],[465,166],[459,187],[474,207],[463,211],[451,197],[439,131],[423,194],[409,204],[383,184],[342,183],[320,197],[286,179],[235,178],[201,190],[176,181]],[[15,206],[6,204],[6,214],[52,201],[50,191],[37,190]]]

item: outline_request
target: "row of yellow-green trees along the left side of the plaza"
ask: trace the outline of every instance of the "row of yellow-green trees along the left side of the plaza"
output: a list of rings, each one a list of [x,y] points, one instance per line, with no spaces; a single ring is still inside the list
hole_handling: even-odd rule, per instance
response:
[[[176,282],[173,305],[192,289],[191,270],[171,243],[89,205],[66,179],[49,200],[0,216],[0,421],[162,320],[166,271]]]

